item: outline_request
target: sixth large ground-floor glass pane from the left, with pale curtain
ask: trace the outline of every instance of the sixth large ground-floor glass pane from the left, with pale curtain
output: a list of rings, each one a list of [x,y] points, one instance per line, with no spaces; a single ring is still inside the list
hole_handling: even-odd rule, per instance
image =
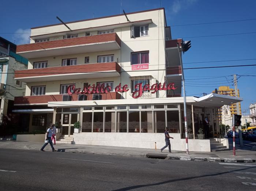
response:
[[[141,111],[141,132],[153,133],[153,120],[151,111]]]

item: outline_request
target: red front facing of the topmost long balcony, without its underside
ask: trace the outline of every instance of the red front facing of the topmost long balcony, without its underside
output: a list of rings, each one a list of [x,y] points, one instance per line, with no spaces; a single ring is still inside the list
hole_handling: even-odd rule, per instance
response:
[[[68,47],[76,46],[82,44],[92,44],[92,43],[103,43],[116,41],[119,46],[121,46],[121,40],[118,35],[114,33],[101,34],[101,35],[92,35],[92,36],[81,36],[76,38],[69,39],[60,39],[60,40],[51,40],[46,42],[38,42],[31,44],[22,44],[17,46],[16,52],[26,52],[26,51],[35,51],[35,50],[44,50],[48,48],[59,48],[59,47]]]

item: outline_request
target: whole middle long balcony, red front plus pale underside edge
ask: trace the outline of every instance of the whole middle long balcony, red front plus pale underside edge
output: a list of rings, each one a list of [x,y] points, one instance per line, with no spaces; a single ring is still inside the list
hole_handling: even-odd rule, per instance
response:
[[[45,82],[56,80],[118,76],[120,76],[120,66],[118,65],[118,63],[104,62],[72,66],[57,66],[29,70],[16,70],[14,78],[22,82]]]

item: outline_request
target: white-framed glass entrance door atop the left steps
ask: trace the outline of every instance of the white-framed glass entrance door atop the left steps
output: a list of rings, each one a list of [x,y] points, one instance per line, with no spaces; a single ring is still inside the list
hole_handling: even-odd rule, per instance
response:
[[[64,113],[62,120],[62,135],[73,135],[74,123],[78,121],[78,113]]]

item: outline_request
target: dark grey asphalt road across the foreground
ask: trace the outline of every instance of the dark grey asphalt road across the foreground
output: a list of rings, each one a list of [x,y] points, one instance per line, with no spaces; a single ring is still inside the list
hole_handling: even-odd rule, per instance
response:
[[[256,165],[0,149],[0,190],[256,190]]]

